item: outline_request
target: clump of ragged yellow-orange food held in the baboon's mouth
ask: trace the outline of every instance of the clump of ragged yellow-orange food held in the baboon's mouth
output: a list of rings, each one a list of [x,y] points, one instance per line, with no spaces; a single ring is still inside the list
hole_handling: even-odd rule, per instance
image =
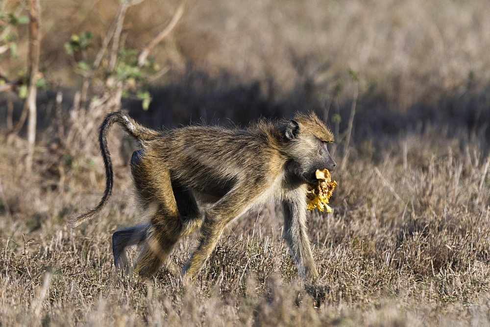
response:
[[[332,196],[334,188],[338,185],[336,181],[332,182],[332,177],[328,169],[317,169],[315,177],[318,179],[318,185],[308,191],[308,210],[318,208],[320,211],[326,209],[327,212],[331,212],[328,203],[328,199]]]

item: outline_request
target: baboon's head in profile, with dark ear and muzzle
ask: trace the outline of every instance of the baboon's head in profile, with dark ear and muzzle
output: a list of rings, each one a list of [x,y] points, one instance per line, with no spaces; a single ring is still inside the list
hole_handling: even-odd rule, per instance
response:
[[[286,126],[285,137],[286,152],[294,160],[295,171],[305,182],[317,182],[317,169],[334,170],[337,164],[327,149],[327,144],[334,141],[334,135],[315,114],[296,114]]]

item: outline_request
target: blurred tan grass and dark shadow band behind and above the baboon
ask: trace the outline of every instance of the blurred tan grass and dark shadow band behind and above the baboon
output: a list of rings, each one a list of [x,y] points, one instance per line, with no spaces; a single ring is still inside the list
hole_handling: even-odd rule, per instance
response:
[[[138,2],[127,8],[120,44],[135,52],[168,26],[181,5]],[[73,107],[73,94],[83,83],[79,63],[94,62],[120,5],[117,0],[41,0],[40,70],[47,82],[38,95],[41,128],[56,88],[63,90],[63,110]],[[131,94],[124,94],[123,107],[152,127],[226,123],[223,118],[244,124],[313,110],[341,136],[356,102],[354,140],[377,140],[420,123],[488,136],[486,0],[189,0],[183,5],[180,19],[148,56],[155,72],[164,71],[124,87]],[[22,1],[3,0],[2,6],[5,28],[6,15]],[[16,54],[3,53],[0,68],[15,80],[26,67],[28,24],[11,27]],[[84,50],[75,44],[67,53],[65,44],[86,32],[91,36]],[[97,83],[91,85],[88,97],[97,89]],[[149,91],[148,110],[131,96],[135,90]],[[3,100],[1,117],[6,112]]]

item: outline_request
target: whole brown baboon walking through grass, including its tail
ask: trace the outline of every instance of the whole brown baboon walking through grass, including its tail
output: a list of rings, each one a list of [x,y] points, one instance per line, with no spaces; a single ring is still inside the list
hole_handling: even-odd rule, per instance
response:
[[[287,120],[260,120],[245,129],[186,126],[155,131],[123,112],[105,117],[99,143],[106,171],[106,188],[98,206],[74,217],[76,227],[97,214],[113,187],[107,147],[110,127],[119,123],[140,142],[130,167],[139,201],[154,209],[150,222],[117,231],[112,236],[114,263],[126,267],[125,248],[141,245],[134,272],[157,272],[182,236],[200,228],[197,244],[182,274],[194,278],[210,257],[225,226],[273,197],[284,211],[284,238],[299,273],[318,277],[307,231],[306,194],[316,184],[315,171],[333,170],[327,143],[332,132],[315,114]],[[201,218],[196,200],[210,202]],[[200,201],[200,200],[199,200]]]

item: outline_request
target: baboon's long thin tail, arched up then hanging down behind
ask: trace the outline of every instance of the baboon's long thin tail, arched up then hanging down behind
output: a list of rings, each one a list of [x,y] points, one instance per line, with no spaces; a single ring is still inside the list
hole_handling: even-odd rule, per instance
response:
[[[114,184],[114,173],[112,170],[112,162],[111,162],[111,154],[109,152],[109,148],[107,147],[107,135],[109,134],[109,130],[114,123],[119,123],[123,128],[132,135],[134,138],[138,140],[149,140],[156,136],[158,136],[158,132],[152,130],[150,128],[146,128],[136,121],[134,121],[131,117],[128,117],[121,111],[117,111],[107,115],[100,125],[100,131],[98,135],[98,142],[100,144],[100,151],[102,152],[102,159],[104,160],[105,166],[105,191],[102,199],[100,200],[97,207],[94,209],[88,210],[84,213],[81,213],[68,221],[68,226],[76,227],[83,223],[84,221],[92,218],[95,214],[100,212],[102,208],[106,205],[109,197],[112,194],[112,186]]]

